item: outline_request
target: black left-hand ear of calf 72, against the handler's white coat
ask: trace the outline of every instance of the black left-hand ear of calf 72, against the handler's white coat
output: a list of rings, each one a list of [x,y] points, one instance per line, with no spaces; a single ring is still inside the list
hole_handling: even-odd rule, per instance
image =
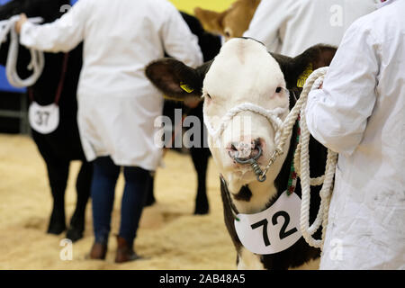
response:
[[[150,63],[145,74],[166,98],[184,101],[202,95],[202,81],[210,66],[211,61],[194,69],[175,58],[161,58]]]

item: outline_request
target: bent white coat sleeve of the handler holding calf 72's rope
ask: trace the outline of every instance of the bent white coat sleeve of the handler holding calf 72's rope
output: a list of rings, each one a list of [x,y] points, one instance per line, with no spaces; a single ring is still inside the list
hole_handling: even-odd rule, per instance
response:
[[[363,138],[376,102],[379,53],[372,29],[357,21],[345,33],[322,89],[309,94],[308,129],[338,153],[351,155]]]

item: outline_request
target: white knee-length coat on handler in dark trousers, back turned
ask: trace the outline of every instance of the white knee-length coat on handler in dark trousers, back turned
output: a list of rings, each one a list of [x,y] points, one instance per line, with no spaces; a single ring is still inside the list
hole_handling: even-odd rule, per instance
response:
[[[166,0],[80,0],[54,23],[25,23],[21,42],[68,51],[84,40],[77,88],[78,127],[87,160],[111,156],[116,165],[155,170],[161,149],[154,121],[163,97],[144,68],[164,51],[187,65],[202,63],[197,38]]]

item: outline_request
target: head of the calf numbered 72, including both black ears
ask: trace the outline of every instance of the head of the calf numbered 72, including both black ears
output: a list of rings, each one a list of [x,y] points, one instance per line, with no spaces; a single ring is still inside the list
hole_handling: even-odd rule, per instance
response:
[[[269,194],[276,193],[275,178],[287,153],[277,157],[263,183],[257,181],[250,165],[240,165],[235,159],[254,157],[262,168],[267,165],[275,149],[275,129],[263,114],[284,108],[278,115],[284,121],[289,107],[286,83],[288,89],[299,94],[297,80],[302,73],[308,67],[328,66],[335,51],[329,46],[316,45],[289,58],[268,53],[256,40],[238,38],[226,42],[213,61],[200,67],[187,67],[174,58],[162,58],[148,65],[146,75],[172,98],[203,96],[204,122],[212,133],[208,136],[212,156],[231,193],[238,193],[243,185],[249,184],[255,197],[244,203],[251,206],[244,207],[244,211],[254,212],[266,205]],[[251,109],[238,110],[243,103],[248,103]],[[216,130],[219,132],[215,133]],[[284,151],[289,145],[287,139]],[[238,202],[236,206],[240,208]]]

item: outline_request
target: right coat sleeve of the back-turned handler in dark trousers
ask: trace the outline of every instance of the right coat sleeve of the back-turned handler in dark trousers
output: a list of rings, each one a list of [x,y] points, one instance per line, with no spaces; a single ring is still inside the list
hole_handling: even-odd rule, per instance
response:
[[[202,51],[198,38],[188,28],[181,14],[172,4],[166,4],[166,19],[161,30],[161,39],[166,53],[184,64],[197,67],[202,64]]]

